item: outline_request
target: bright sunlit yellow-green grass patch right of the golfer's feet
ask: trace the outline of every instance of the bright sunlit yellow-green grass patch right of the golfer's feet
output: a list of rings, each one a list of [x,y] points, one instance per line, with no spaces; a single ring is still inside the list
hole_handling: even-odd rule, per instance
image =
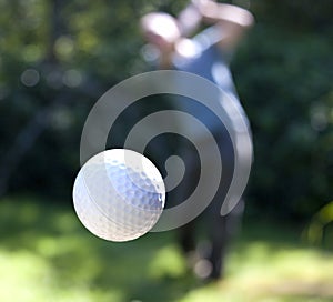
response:
[[[229,255],[224,281],[194,289],[180,301],[332,301],[332,265],[333,255],[319,250],[249,242]]]

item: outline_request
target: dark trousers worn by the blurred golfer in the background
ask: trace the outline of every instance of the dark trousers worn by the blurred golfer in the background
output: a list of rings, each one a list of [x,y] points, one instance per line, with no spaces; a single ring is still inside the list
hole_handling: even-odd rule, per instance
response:
[[[211,245],[209,254],[204,255],[204,258],[210,261],[212,266],[212,271],[209,275],[211,279],[218,279],[224,273],[226,246],[236,231],[236,226],[243,212],[243,201],[240,201],[228,215],[222,217],[220,214],[222,203],[228,202],[225,195],[233,177],[234,153],[231,139],[225,129],[221,129],[219,133],[214,133],[214,139],[219,145],[222,160],[222,175],[219,189],[203,214],[179,230],[180,244],[184,252],[190,252],[194,250],[196,245],[196,224],[199,223],[199,220],[204,219],[203,228],[205,238]],[[193,148],[184,148],[183,158],[185,160],[186,171],[181,194],[183,194],[184,200],[184,197],[189,195],[195,189],[198,178],[200,177],[201,163],[196,151]],[[214,169],[213,163],[210,164],[212,165],[212,169]]]

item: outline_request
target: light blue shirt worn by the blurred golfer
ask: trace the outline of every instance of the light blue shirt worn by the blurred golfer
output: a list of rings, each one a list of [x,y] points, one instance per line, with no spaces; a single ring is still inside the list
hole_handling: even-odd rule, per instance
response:
[[[223,95],[221,93],[208,92],[210,93],[210,98],[220,102],[221,105],[223,101],[233,102],[233,105],[236,105],[245,118],[246,115],[239,101],[229,68],[232,53],[223,53],[216,46],[223,38],[221,29],[211,27],[194,38],[182,41],[176,47],[173,66],[175,70],[191,72],[212,81],[223,90]],[[209,108],[204,107],[201,103],[202,100],[198,102],[180,95],[173,99],[175,108],[199,119],[210,132],[216,133],[224,128],[221,119]],[[204,135],[201,127],[195,127],[190,120],[184,119],[179,121],[179,123],[185,131],[190,131],[193,135],[198,137],[198,140],[201,140],[202,135]]]

